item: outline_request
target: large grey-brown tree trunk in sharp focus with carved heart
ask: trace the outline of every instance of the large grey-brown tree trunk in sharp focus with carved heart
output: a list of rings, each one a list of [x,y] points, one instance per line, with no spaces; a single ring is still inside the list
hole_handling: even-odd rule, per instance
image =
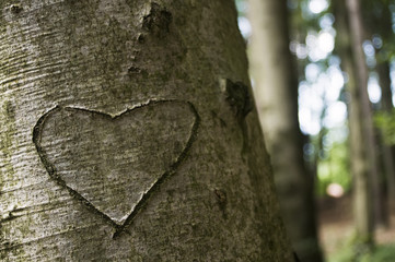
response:
[[[292,261],[232,1],[0,8],[1,261]]]

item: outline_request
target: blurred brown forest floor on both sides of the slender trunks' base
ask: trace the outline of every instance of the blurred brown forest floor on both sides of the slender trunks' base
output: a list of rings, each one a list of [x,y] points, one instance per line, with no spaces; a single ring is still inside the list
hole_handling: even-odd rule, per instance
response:
[[[318,225],[325,257],[328,258],[339,252],[352,237],[351,198],[346,195],[340,199],[321,200]],[[392,212],[390,228],[376,229],[375,239],[377,245],[395,243],[395,212]]]

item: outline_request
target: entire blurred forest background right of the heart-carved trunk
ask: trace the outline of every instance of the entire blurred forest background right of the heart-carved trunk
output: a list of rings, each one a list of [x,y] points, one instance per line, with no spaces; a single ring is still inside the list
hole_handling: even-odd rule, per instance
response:
[[[395,261],[395,1],[236,7],[300,260]]]

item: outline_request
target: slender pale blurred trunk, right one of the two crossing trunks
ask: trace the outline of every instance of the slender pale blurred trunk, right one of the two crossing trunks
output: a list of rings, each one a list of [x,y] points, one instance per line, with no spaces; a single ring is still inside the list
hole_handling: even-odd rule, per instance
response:
[[[377,171],[371,105],[368,96],[368,68],[362,49],[363,26],[358,0],[347,0],[353,55],[355,88],[351,93],[350,133],[353,151],[356,241],[370,247],[373,243],[371,199],[377,207]]]

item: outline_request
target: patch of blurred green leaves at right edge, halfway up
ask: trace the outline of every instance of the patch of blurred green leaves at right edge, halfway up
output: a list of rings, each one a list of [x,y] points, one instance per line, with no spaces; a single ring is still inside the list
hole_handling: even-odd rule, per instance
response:
[[[395,109],[392,112],[376,112],[374,124],[383,134],[387,145],[395,145]]]

